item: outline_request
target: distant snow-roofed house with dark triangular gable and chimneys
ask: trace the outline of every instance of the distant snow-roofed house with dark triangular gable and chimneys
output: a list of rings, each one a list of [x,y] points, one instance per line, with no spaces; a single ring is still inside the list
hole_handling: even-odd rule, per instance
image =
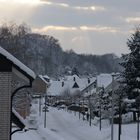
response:
[[[90,80],[90,81],[89,81]],[[77,75],[65,76],[64,78],[57,80],[51,80],[50,87],[48,89],[48,95],[50,96],[59,96],[65,94],[75,94],[76,92],[85,93],[85,88],[95,82],[95,77],[92,78],[80,78]],[[83,91],[83,92],[82,92]]]

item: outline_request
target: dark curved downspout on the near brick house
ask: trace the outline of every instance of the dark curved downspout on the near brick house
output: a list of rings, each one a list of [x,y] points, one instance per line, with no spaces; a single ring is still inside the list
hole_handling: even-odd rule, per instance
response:
[[[33,80],[31,80],[31,79],[29,79],[29,80],[30,80],[29,85],[24,85],[24,86],[21,86],[21,87],[15,89],[15,91],[14,91],[14,92],[12,93],[12,95],[11,95],[11,109],[10,109],[10,111],[11,111],[11,116],[10,116],[10,140],[11,140],[12,135],[13,135],[15,132],[18,132],[18,131],[22,131],[22,130],[23,130],[23,129],[20,128],[20,129],[14,130],[14,131],[12,132],[12,101],[13,101],[13,98],[14,98],[15,94],[16,94],[19,90],[24,89],[24,88],[31,88],[31,87],[32,87],[32,81],[33,81]]]

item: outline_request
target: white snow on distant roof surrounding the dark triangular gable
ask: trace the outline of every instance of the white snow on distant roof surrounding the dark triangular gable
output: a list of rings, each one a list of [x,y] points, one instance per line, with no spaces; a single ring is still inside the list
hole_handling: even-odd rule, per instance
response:
[[[75,81],[74,81],[75,77]],[[64,79],[59,81],[51,81],[51,85],[48,89],[49,95],[61,95],[65,90],[70,90],[70,93],[74,93],[77,90],[82,91],[86,88],[89,84],[95,81],[95,77],[90,78],[90,83],[88,83],[88,78],[79,78],[77,75],[73,76],[66,76]],[[73,88],[74,83],[77,83],[79,88]],[[62,86],[62,83],[64,85]]]

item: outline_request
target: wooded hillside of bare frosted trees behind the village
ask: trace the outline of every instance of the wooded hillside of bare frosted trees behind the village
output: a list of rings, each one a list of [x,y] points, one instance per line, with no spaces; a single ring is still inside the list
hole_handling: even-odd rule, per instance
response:
[[[22,28],[21,28],[22,27]],[[0,28],[0,45],[37,74],[58,77],[76,70],[80,75],[110,73],[120,70],[119,58],[114,54],[76,54],[63,51],[57,39],[49,35],[29,32],[21,26],[18,32],[9,27]]]

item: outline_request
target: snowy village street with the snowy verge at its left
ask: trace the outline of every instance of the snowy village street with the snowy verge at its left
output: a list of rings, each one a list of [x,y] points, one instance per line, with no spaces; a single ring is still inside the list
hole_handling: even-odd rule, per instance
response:
[[[103,140],[104,137],[97,127],[90,127],[87,121],[79,120],[74,113],[51,108],[47,114],[47,128],[43,128],[44,114],[40,118],[39,129],[25,133],[15,133],[13,140],[18,140],[21,135],[26,140]]]

